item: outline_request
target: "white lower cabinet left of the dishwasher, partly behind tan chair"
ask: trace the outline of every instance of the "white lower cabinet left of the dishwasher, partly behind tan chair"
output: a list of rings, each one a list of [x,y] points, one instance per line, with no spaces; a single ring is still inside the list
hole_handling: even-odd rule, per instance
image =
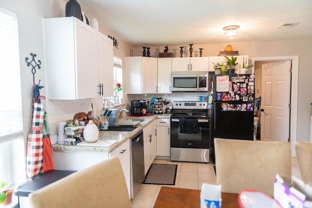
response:
[[[110,152],[111,156],[117,156],[120,160],[121,167],[123,173],[125,175],[126,184],[128,188],[129,198],[131,198],[131,160],[130,160],[130,140],[123,143],[120,147],[116,150]]]

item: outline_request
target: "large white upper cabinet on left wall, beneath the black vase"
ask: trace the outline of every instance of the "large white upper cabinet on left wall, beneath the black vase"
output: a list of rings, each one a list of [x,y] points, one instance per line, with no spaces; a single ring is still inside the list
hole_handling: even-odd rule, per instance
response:
[[[99,65],[105,63],[99,62],[97,30],[74,17],[43,19],[43,41],[48,99],[103,96]],[[106,50],[112,56],[111,49]],[[113,60],[107,64],[112,66]],[[111,73],[114,69],[106,70]]]

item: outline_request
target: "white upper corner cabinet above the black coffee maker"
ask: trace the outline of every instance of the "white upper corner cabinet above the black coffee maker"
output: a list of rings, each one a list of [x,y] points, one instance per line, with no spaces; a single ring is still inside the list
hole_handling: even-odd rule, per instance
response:
[[[157,58],[126,57],[127,94],[157,93]]]

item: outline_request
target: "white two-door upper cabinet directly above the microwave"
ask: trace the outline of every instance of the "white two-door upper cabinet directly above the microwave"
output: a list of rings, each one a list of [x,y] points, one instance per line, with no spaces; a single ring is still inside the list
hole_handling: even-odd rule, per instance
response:
[[[173,72],[208,72],[209,57],[172,58]]]

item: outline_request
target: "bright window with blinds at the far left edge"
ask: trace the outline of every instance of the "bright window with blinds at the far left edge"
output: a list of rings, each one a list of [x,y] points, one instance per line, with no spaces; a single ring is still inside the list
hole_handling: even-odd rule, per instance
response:
[[[0,7],[0,181],[25,180],[18,19]]]

